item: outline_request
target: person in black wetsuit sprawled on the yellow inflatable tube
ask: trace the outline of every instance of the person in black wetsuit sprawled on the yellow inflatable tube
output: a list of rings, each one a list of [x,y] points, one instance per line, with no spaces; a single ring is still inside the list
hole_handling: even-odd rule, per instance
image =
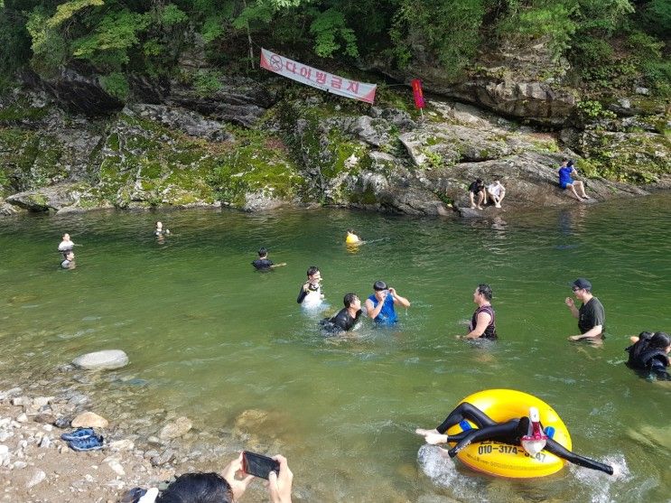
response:
[[[478,428],[468,429],[452,436],[445,434],[454,424],[460,424],[464,420],[475,423]],[[497,423],[475,405],[463,402],[457,405],[450,415],[445,418],[443,424],[440,424],[436,429],[423,430],[417,428],[415,433],[422,435],[427,443],[433,445],[455,442],[456,445],[447,452],[451,458],[472,442],[491,441],[508,443],[509,445],[520,445],[532,457],[535,457],[538,452],[545,450],[579,466],[592,470],[600,470],[609,475],[613,474],[613,468],[610,465],[593,461],[580,454],[571,452],[545,434],[543,425],[539,421],[538,409],[536,407],[529,407],[528,416],[510,419],[504,423]]]

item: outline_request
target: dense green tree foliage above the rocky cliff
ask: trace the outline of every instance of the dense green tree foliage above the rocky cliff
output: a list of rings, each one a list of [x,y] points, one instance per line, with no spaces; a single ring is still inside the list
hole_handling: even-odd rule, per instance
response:
[[[489,45],[536,41],[588,88],[669,96],[669,36],[668,0],[4,0],[0,75],[85,62],[124,98],[124,75],[170,72],[200,41],[224,70],[253,66],[249,49],[263,43],[303,59],[428,63],[458,79]]]

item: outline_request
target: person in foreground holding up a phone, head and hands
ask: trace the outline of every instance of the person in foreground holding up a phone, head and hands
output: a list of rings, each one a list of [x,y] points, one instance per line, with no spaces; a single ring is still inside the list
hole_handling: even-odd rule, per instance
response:
[[[273,456],[280,463],[280,472],[271,471],[268,476],[268,501],[271,503],[291,503],[291,491],[294,473],[284,456]],[[245,493],[247,486],[254,479],[247,475],[236,479],[242,473],[242,453],[228,463],[221,475],[219,473],[184,473],[177,478],[158,498],[143,499],[142,503],[234,503]],[[156,489],[150,489],[155,494]],[[149,492],[149,491],[148,491]],[[151,495],[150,495],[151,496]]]

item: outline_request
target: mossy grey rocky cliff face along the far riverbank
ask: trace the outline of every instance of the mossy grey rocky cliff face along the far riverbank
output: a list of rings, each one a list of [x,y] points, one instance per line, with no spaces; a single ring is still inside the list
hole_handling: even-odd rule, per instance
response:
[[[429,100],[424,119],[408,93],[381,93],[368,107],[310,88],[285,92],[273,79],[227,79],[203,97],[181,81],[134,77],[124,106],[75,70],[49,82],[30,74],[0,101],[0,214],[318,203],[453,215],[477,177],[506,185],[508,208],[573,204],[555,184],[564,155],[583,157],[598,200],[644,192],[617,182],[621,170],[601,179],[595,163],[626,164],[641,184],[667,181],[663,112],[632,116],[629,107],[586,124],[572,92],[497,68],[449,88],[428,79],[459,99]]]

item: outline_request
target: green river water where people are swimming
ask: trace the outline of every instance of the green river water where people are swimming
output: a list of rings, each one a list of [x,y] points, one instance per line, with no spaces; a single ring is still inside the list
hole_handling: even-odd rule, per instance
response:
[[[0,383],[48,379],[83,352],[124,349],[131,365],[86,388],[99,413],[114,422],[121,410],[142,417],[163,407],[198,430],[230,432],[244,411],[265,411],[249,442],[289,458],[305,501],[668,500],[671,387],[636,377],[623,349],[638,331],[671,331],[671,197],[503,217],[188,210],[0,219]],[[163,244],[156,219],[172,230]],[[368,241],[354,253],[344,245],[349,227]],[[73,271],[59,269],[54,251],[65,231],[81,244]],[[262,245],[288,265],[256,273],[249,263]],[[377,279],[412,305],[393,329],[365,322],[351,338],[325,340],[319,314],[295,303],[309,265],[322,269],[331,312],[344,293],[368,296]],[[566,340],[577,332],[564,305],[577,276],[592,280],[606,308],[601,349]],[[494,290],[500,340],[474,348],[453,336],[465,332],[482,282]],[[489,387],[543,398],[574,451],[620,475],[571,466],[512,481],[433,451],[419,462],[415,427],[435,426]]]

